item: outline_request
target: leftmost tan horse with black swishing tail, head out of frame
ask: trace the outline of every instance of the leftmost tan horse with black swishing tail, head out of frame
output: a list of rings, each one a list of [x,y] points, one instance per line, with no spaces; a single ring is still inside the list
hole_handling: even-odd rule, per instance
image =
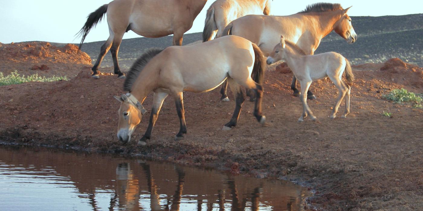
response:
[[[125,32],[132,30],[148,38],[159,38],[173,34],[173,45],[182,45],[184,33],[200,13],[207,0],[114,0],[102,5],[88,15],[87,22],[79,32],[82,35],[80,49],[85,37],[107,14],[109,38],[100,49],[93,68],[93,78],[99,78],[97,70],[107,51],[112,52],[113,66],[118,78],[125,78],[118,64],[118,51]]]

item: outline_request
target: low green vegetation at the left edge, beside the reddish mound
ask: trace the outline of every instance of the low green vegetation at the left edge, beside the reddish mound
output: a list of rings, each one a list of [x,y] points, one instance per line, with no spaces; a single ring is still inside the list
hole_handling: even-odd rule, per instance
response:
[[[22,84],[25,82],[31,82],[31,81],[38,81],[38,82],[52,82],[52,81],[61,81],[68,79],[66,77],[58,77],[58,76],[52,76],[49,78],[46,78],[45,76],[41,77],[38,76],[38,74],[34,74],[31,76],[20,76],[18,71],[14,71],[10,73],[8,76],[4,76],[3,73],[0,73],[0,86],[10,85],[10,84]]]

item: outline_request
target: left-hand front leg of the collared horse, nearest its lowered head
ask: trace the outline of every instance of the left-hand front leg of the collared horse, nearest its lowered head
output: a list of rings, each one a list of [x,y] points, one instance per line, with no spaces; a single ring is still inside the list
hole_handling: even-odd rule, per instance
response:
[[[160,108],[162,108],[163,101],[166,97],[168,97],[168,93],[166,92],[154,92],[153,95],[153,108],[151,108],[151,115],[150,115],[150,121],[148,122],[148,127],[146,130],[146,133],[143,135],[143,137],[138,141],[138,146],[140,145],[146,145],[147,139],[149,140],[151,138],[151,132],[153,131],[154,124],[156,124],[157,117],[159,116]]]

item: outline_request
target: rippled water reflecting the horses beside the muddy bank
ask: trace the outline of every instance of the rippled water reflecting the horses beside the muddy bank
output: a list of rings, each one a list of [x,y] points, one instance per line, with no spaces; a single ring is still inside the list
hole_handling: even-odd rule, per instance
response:
[[[0,210],[304,210],[291,182],[207,168],[0,146]]]

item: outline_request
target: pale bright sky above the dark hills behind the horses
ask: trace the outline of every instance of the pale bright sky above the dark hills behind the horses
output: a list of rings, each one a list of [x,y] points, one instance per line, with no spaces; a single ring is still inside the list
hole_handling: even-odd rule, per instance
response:
[[[0,42],[48,41],[79,43],[75,34],[85,24],[86,17],[110,0],[0,0]],[[214,0],[208,0],[187,33],[201,32],[206,10]],[[316,0],[273,0],[273,15],[290,15],[303,10]],[[338,0],[343,8],[353,6],[349,16],[385,16],[423,13],[423,1],[401,0],[401,3],[380,3],[376,0]],[[354,19],[352,20],[354,25]],[[85,42],[104,41],[108,38],[107,21],[103,19],[88,34]],[[130,31],[124,39],[140,35]]]

